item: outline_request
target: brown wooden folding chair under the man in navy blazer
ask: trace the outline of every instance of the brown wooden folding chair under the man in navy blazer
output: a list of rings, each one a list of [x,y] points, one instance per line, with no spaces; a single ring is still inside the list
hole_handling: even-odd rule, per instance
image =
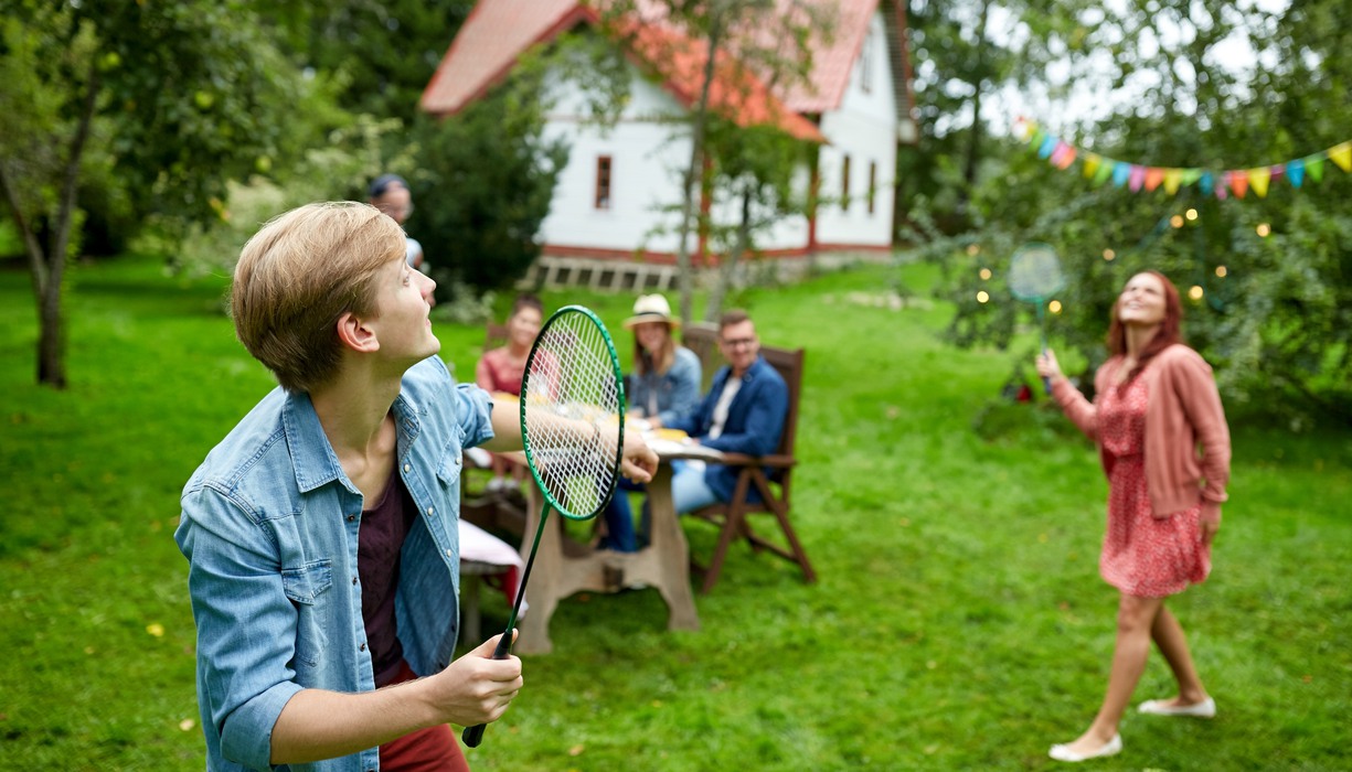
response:
[[[691,329],[685,331],[683,342],[691,346],[708,345],[717,347],[717,330]],[[695,341],[692,341],[692,338]],[[700,338],[707,338],[702,341]],[[696,353],[699,353],[696,350]],[[790,522],[790,508],[792,504],[792,477],[798,460],[794,457],[794,443],[798,437],[798,406],[803,391],[803,349],[775,349],[761,346],[761,356],[769,362],[788,385],[788,415],[784,418],[784,434],[780,437],[779,448],[771,456],[752,457],[740,453],[725,454],[723,462],[740,468],[737,485],[733,488],[733,498],[727,503],[718,503],[702,510],[690,512],[692,516],[714,523],[719,529],[718,545],[708,566],[696,566],[703,572],[704,580],[700,592],[708,592],[718,583],[723,571],[723,560],[727,557],[727,548],[733,539],[745,538],[756,552],[767,550],[790,562],[796,564],[803,571],[803,577],[808,584],[817,581],[817,572],[807,560],[794,526]],[[714,368],[706,366],[707,370]],[[710,375],[713,377],[713,375]],[[769,473],[767,473],[767,468]],[[749,493],[756,491],[761,500],[748,500]],[[773,515],[784,534],[786,546],[780,546],[765,539],[752,530],[749,515]]]

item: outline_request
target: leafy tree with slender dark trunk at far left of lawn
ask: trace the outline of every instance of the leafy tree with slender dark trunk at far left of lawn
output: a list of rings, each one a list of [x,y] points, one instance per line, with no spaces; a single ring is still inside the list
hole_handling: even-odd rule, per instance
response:
[[[0,188],[38,300],[38,383],[64,388],[81,180],[101,162],[170,222],[218,216],[227,180],[288,147],[299,78],[235,0],[4,0],[0,24]]]

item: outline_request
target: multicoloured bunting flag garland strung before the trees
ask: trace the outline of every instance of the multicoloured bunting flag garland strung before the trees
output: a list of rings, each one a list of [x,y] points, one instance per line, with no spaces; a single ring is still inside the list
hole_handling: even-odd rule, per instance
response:
[[[1146,166],[1129,164],[1109,158],[1099,153],[1080,150],[1065,142],[1060,137],[1053,137],[1033,120],[1019,118],[1014,122],[1015,130],[1023,132],[1023,141],[1030,147],[1037,147],[1037,157],[1056,166],[1069,169],[1076,160],[1083,164],[1084,178],[1095,188],[1105,183],[1113,183],[1114,188],[1126,187],[1133,193],[1142,189],[1155,192],[1164,188],[1169,196],[1190,185],[1197,185],[1206,196],[1228,199],[1234,196],[1242,199],[1251,192],[1265,199],[1275,180],[1284,178],[1293,188],[1302,188],[1306,180],[1320,183],[1324,180],[1324,161],[1333,161],[1333,165],[1344,172],[1352,173],[1352,139],[1340,142],[1322,153],[1293,158],[1284,164],[1271,166],[1255,166],[1252,169],[1226,169],[1213,172],[1202,168],[1176,166]]]

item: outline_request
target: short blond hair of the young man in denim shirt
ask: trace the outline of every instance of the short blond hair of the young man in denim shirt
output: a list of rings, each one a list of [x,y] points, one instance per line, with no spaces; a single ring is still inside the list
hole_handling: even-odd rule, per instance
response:
[[[307,204],[269,220],[239,253],[235,335],[283,388],[308,392],[338,373],[338,318],[379,311],[375,276],[404,260],[404,233],[369,204]]]

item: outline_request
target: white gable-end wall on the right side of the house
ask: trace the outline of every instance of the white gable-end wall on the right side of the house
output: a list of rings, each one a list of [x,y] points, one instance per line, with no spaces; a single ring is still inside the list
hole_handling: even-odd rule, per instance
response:
[[[817,241],[886,246],[892,242],[892,200],[896,176],[896,100],[883,15],[875,14],[868,42],[838,110],[822,116],[822,134],[830,141],[819,158],[821,196],[817,210]],[[865,91],[867,84],[867,91]],[[844,193],[845,158],[849,158],[848,206]],[[873,169],[873,211],[868,211],[869,168]]]

